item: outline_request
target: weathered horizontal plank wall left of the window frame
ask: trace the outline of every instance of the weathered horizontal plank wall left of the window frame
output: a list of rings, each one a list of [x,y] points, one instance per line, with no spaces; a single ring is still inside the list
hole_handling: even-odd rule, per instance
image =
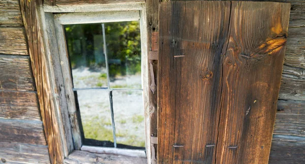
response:
[[[49,163],[18,0],[0,1],[0,163]]]

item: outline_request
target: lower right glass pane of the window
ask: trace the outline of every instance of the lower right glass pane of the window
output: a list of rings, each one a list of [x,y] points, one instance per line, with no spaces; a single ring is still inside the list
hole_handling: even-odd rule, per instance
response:
[[[114,90],[112,100],[117,147],[142,149],[145,147],[142,91]]]

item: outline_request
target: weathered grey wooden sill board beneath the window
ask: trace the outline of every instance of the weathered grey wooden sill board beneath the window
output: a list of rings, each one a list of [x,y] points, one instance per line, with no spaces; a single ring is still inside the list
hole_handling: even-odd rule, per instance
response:
[[[73,151],[68,159],[65,159],[65,163],[80,164],[80,163],[147,163],[146,158],[129,157],[121,155],[110,155],[110,154],[94,154],[86,151]]]

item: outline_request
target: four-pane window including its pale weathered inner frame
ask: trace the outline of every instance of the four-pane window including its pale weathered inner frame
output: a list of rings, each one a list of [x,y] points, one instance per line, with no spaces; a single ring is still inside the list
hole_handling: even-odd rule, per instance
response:
[[[98,149],[147,155],[149,162],[147,34],[140,13],[53,14],[54,32],[49,37],[55,33],[57,46],[50,49],[63,77],[64,87],[58,88],[65,93],[58,95],[63,99],[58,113],[63,118],[59,123],[65,130],[66,157],[74,149]]]

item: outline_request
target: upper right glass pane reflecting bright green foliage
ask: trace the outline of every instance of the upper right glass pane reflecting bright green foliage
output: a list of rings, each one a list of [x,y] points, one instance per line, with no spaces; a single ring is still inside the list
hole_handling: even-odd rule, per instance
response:
[[[141,89],[139,21],[105,23],[110,88]]]

